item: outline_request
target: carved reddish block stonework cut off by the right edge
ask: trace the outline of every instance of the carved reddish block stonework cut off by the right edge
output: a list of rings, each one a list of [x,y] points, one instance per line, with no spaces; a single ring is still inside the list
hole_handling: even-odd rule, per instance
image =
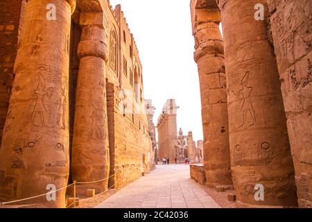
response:
[[[300,207],[312,207],[312,1],[268,1]]]

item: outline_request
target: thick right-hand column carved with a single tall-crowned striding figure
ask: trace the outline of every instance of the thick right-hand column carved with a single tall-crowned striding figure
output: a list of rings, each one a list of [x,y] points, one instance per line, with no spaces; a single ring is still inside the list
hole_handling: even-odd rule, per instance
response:
[[[266,22],[254,6],[266,0],[221,0],[227,70],[229,144],[237,199],[257,205],[297,204],[279,74]],[[264,200],[255,200],[255,185]]]

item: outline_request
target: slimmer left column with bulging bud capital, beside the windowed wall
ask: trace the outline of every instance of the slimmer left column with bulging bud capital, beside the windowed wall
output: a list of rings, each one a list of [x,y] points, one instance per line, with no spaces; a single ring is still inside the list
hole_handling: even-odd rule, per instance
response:
[[[107,128],[105,31],[101,26],[83,27],[78,45],[80,67],[76,89],[71,172],[73,180],[90,182],[110,174]],[[81,185],[82,189],[107,189],[108,180]]]

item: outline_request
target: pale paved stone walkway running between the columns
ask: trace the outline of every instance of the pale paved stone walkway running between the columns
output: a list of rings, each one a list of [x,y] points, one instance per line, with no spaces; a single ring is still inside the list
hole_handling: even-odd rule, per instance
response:
[[[189,176],[189,166],[158,165],[96,208],[220,208]]]

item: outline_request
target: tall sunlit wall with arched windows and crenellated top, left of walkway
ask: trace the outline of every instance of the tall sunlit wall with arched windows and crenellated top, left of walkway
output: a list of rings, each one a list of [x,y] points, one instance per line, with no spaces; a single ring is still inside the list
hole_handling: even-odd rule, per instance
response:
[[[112,32],[116,34],[116,69],[107,65],[107,114],[110,135],[109,187],[120,188],[148,173],[154,164],[153,146],[148,134],[144,100],[143,71],[135,39],[121,6],[105,6],[108,51],[112,56]],[[150,160],[148,160],[150,157]]]

